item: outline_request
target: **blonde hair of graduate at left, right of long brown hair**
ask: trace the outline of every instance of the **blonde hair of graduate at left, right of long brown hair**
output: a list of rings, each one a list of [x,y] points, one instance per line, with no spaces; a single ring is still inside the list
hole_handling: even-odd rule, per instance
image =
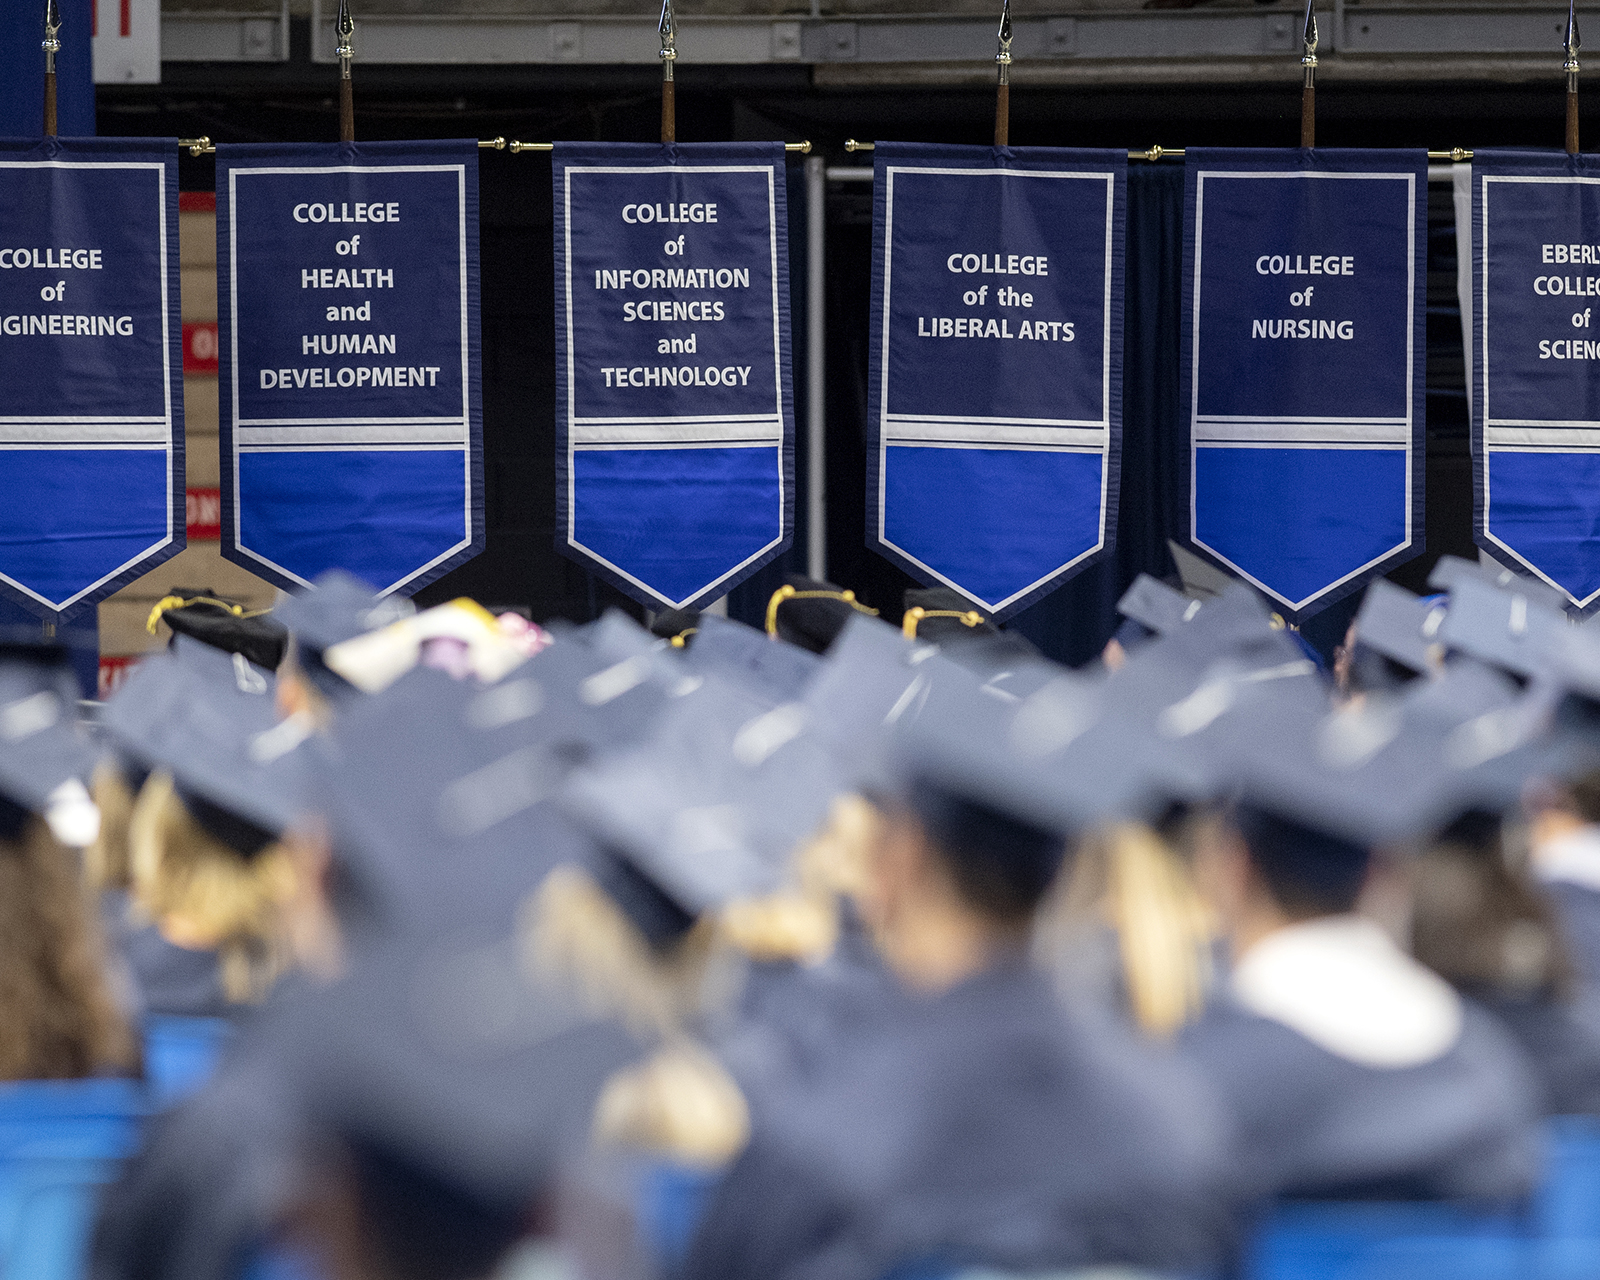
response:
[[[280,842],[246,856],[210,835],[173,778],[152,773],[128,824],[134,904],[162,931],[214,949],[229,1000],[261,1000],[283,968],[294,867]]]

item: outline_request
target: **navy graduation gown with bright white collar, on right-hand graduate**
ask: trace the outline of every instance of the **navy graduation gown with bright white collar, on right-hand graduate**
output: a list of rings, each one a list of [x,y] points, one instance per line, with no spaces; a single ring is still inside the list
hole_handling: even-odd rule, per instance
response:
[[[1539,1085],[1512,1037],[1357,917],[1259,942],[1182,1048],[1256,1195],[1499,1200],[1538,1178]]]

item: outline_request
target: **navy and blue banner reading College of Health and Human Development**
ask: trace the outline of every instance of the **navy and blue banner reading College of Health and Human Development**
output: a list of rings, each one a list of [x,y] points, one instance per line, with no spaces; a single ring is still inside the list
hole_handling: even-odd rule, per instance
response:
[[[410,595],[483,550],[474,141],[222,146],[222,555]]]

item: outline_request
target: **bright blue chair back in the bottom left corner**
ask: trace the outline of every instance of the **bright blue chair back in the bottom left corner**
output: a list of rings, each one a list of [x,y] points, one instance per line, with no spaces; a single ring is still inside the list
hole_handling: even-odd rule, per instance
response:
[[[99,1187],[146,1112],[138,1080],[0,1085],[0,1280],[78,1280]]]

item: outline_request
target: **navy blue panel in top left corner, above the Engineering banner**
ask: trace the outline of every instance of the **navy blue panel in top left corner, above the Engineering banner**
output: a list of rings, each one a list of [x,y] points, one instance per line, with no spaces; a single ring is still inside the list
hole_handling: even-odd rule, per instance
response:
[[[58,0],[61,53],[56,54],[56,130],[62,138],[94,136],[94,0]],[[0,5],[0,138],[38,138],[45,126],[45,5]]]

